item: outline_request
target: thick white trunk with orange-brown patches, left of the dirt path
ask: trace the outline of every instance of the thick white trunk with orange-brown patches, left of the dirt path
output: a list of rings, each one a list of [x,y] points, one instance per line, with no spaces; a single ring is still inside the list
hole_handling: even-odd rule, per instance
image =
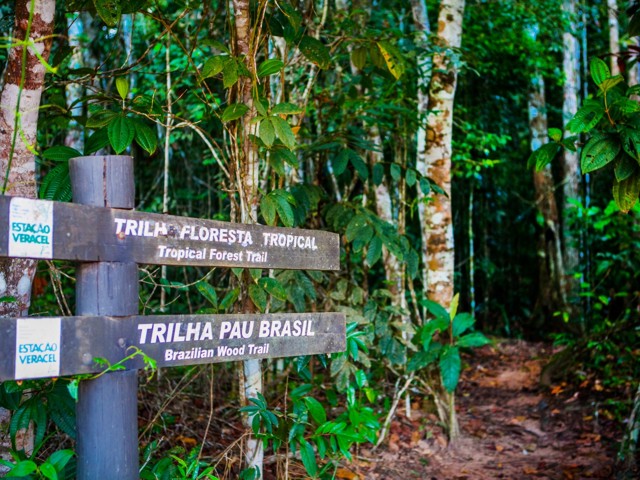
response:
[[[460,47],[464,0],[443,0],[438,13],[437,42],[446,50]],[[433,77],[429,86],[427,146],[424,175],[433,179],[446,195],[436,194],[427,204],[427,295],[448,308],[453,298],[453,223],[451,212],[451,140],[453,104],[458,71],[446,52],[433,57]]]

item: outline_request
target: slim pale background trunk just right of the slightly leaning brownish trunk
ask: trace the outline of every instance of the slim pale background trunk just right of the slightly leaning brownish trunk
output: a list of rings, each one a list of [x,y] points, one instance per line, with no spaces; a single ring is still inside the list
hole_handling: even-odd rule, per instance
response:
[[[566,125],[578,111],[580,98],[580,44],[577,33],[577,6],[576,0],[563,0],[562,10],[568,20],[568,28],[562,35],[563,58],[562,70],[564,72],[562,123]],[[563,260],[568,277],[566,292],[570,297],[578,294],[579,282],[573,276],[579,270],[580,250],[579,239],[570,231],[567,216],[575,211],[572,201],[580,200],[580,161],[577,152],[564,150],[562,155],[563,171]]]

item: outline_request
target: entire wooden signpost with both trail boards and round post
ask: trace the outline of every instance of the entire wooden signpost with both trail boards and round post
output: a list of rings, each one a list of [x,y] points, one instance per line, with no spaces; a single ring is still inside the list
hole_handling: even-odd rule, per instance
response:
[[[134,212],[131,157],[69,166],[81,205],[0,196],[0,257],[81,262],[77,316],[0,318],[0,381],[97,372],[135,349],[168,367],[344,351],[340,313],[137,315],[138,263],[338,270],[338,235]],[[125,367],[80,384],[80,480],[138,478],[142,360]]]

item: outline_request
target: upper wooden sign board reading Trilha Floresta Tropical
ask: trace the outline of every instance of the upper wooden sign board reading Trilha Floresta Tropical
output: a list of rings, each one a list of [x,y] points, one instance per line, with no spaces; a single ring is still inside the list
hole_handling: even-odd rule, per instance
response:
[[[8,196],[0,196],[0,256],[264,269],[340,268],[335,233]]]

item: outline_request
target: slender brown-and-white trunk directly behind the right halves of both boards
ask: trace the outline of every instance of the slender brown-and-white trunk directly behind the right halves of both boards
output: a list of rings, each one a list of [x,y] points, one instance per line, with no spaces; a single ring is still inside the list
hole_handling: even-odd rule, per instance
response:
[[[253,37],[249,4],[249,0],[233,0],[236,34],[235,53],[245,57],[246,66],[253,73],[255,72],[255,64],[252,50]],[[254,39],[254,41],[257,41],[257,39]],[[250,138],[250,135],[255,135],[256,133],[255,124],[251,124],[251,120],[256,116],[251,94],[252,85],[252,79],[250,78],[241,78],[238,84],[238,100],[249,107],[237,133],[237,142],[242,149],[238,152],[239,168],[236,169],[238,191],[240,193],[240,221],[242,223],[257,223],[258,220],[258,151]],[[246,273],[243,288],[243,310],[245,313],[251,313],[255,312],[255,305],[253,305],[248,295],[248,286],[251,278],[248,275],[248,271]],[[242,388],[245,401],[248,398],[257,397],[258,393],[262,393],[262,364],[260,360],[245,360],[243,362],[243,378],[244,385]],[[251,418],[245,418],[245,427],[251,429]],[[247,467],[259,469],[261,478],[263,476],[263,457],[262,441],[251,435],[247,441],[245,461]]]

